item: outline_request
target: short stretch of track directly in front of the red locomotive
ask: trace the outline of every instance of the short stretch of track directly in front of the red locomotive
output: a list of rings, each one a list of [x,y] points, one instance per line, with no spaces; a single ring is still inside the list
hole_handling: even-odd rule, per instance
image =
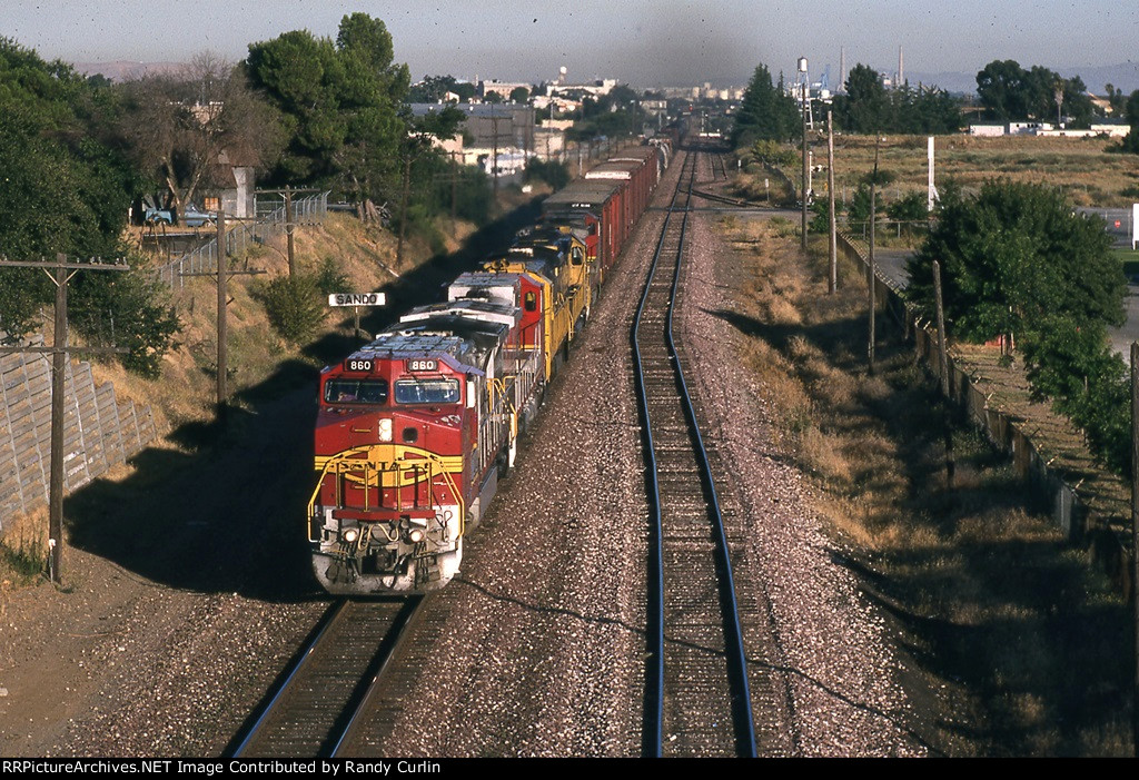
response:
[[[230,752],[235,758],[335,756],[424,597],[334,602],[309,646]]]

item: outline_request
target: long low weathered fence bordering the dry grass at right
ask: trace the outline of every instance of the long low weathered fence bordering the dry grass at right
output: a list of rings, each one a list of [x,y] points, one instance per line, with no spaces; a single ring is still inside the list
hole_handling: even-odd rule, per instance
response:
[[[839,233],[838,254],[849,262],[861,265],[869,276],[868,247],[858,239]],[[916,356],[924,360],[934,376],[941,376],[941,355],[937,348],[936,326],[921,325],[907,306],[902,289],[892,280],[875,276],[875,299],[878,306],[899,323],[907,338],[915,343]],[[1129,512],[1128,507],[1092,508],[1089,500],[1079,492],[1082,479],[1068,484],[1060,469],[1052,467],[1055,459],[1041,452],[1032,440],[1039,428],[989,405],[989,396],[977,386],[974,378],[957,366],[949,355],[949,396],[969,420],[978,426],[1001,452],[1013,459],[1016,475],[1024,479],[1033,498],[1041,508],[1047,508],[1052,520],[1073,544],[1090,547],[1093,558],[1099,561],[1116,585],[1130,593],[1130,517],[1123,523],[1117,515]]]

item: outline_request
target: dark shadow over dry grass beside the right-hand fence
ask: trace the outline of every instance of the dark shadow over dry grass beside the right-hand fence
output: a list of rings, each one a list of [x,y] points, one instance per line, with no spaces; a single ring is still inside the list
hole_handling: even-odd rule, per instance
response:
[[[841,371],[866,373],[865,318],[782,325],[727,310],[708,313],[785,356],[794,352],[793,339],[805,339]],[[896,450],[908,493],[898,517],[874,523],[908,526],[901,533],[910,541],[865,560],[831,555],[895,618],[921,667],[970,692],[973,716],[940,720],[934,728],[941,737],[932,741],[967,745],[965,753],[980,755],[1129,754],[1120,738],[1130,713],[1124,606],[1106,585],[1098,597],[1089,593],[1085,555],[1062,534],[1007,533],[1006,518],[1039,509],[1038,500],[1008,458],[956,413],[957,478],[945,490],[940,392],[915,366],[912,345],[890,326],[879,334],[878,373],[894,392],[860,397],[849,414],[833,410],[827,425],[843,430],[865,424],[867,412],[874,417]],[[854,482],[874,491],[876,478],[885,477],[857,474]]]

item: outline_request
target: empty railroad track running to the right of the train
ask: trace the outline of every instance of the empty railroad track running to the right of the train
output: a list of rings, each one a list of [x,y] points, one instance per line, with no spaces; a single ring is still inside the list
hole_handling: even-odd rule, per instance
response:
[[[727,539],[672,336],[697,157],[685,157],[632,326],[652,516],[642,750],[754,756]]]

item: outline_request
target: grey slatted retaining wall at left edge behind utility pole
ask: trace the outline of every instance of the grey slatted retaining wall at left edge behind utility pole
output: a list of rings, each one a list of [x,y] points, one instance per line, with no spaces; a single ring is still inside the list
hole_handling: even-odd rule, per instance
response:
[[[42,345],[42,337],[33,344]],[[157,437],[149,407],[118,403],[110,383],[96,386],[90,363],[67,363],[64,488],[74,491],[125,462]],[[0,356],[0,537],[10,518],[46,507],[51,458],[51,361]]]

